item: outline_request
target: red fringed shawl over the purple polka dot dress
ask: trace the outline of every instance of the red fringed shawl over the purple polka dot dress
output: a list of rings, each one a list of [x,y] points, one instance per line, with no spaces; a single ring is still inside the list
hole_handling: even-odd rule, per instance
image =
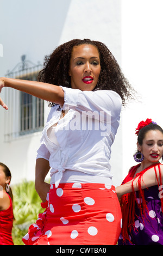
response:
[[[145,172],[147,172],[148,169],[151,169],[152,167],[154,167],[155,174],[156,174],[156,168],[155,167],[158,166],[159,176],[160,176],[160,184],[159,184],[159,180],[158,180],[157,174],[156,174],[156,179],[158,181],[158,185],[162,185],[161,184],[161,170],[160,170],[160,164],[161,163],[152,164],[151,166],[149,166],[146,169],[142,170],[140,173],[137,173],[135,178],[134,178],[134,174],[135,174],[137,168],[140,166],[140,164],[141,163],[137,164],[136,166],[131,167],[130,170],[129,170],[128,175],[126,176],[126,178],[122,182],[122,184],[127,183],[128,181],[130,181],[132,179],[135,179],[137,176],[139,176],[139,179],[138,179],[137,182],[138,182],[138,186],[139,186],[139,198],[141,198],[141,202],[142,202],[141,204],[139,204],[137,202],[137,198],[136,198],[135,192],[124,194],[121,197],[120,204],[121,204],[122,220],[123,220],[121,234],[122,234],[123,240],[127,239],[127,240],[130,241],[128,233],[132,229],[135,229],[135,225],[134,225],[135,201],[137,203],[137,207],[140,209],[140,214],[141,215],[142,214],[146,215],[145,210],[148,211],[146,200],[145,200],[145,197],[144,197],[144,190],[142,190],[142,188],[141,188],[141,181],[142,181],[143,174]],[[134,191],[133,182],[132,182],[132,188],[133,188],[133,191]],[[161,209],[162,209],[162,212],[163,212],[163,198],[160,198],[160,199],[161,199]]]

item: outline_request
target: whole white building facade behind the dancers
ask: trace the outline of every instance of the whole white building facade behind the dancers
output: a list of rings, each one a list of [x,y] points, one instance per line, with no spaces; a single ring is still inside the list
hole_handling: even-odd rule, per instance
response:
[[[141,96],[139,102],[133,101],[123,108],[121,124],[112,146],[110,163],[113,181],[115,186],[120,185],[130,166],[135,164],[135,128],[139,121],[152,118],[163,126],[162,0],[1,2],[3,11],[0,22],[1,19],[6,20],[0,28],[1,77],[20,62],[23,54],[34,63],[38,60],[43,63],[46,54],[74,38],[102,41],[114,54],[123,73]],[[11,170],[11,185],[23,179],[34,180],[42,124],[31,126],[30,132],[28,129],[22,132],[20,92],[4,88],[1,96],[9,109],[0,109],[0,162]],[[41,111],[45,124],[49,112],[46,101]],[[38,114],[34,112],[33,119],[37,121]]]

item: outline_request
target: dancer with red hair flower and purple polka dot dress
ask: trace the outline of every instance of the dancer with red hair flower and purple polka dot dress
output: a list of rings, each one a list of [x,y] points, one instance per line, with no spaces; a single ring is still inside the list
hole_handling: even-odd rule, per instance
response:
[[[122,209],[118,245],[163,245],[163,130],[152,119],[136,129],[136,162],[116,187]]]

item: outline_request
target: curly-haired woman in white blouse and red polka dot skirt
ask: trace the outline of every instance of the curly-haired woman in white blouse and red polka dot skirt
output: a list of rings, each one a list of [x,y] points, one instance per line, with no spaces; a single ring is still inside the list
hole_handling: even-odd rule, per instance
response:
[[[45,58],[38,80],[0,81],[1,88],[12,87],[51,102],[36,157],[35,188],[45,211],[30,225],[23,242],[115,245],[121,210],[109,160],[121,106],[133,89],[109,49],[89,39],[57,47]]]

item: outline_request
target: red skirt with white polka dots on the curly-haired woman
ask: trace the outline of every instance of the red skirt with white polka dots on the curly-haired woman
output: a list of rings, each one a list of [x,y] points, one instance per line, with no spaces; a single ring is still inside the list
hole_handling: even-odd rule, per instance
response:
[[[22,239],[26,245],[116,245],[122,216],[114,186],[51,185],[41,206],[45,211]]]

